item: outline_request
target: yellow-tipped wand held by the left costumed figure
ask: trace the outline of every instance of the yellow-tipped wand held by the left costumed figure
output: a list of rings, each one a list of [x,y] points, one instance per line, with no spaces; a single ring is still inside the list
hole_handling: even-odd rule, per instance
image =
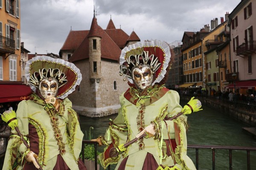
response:
[[[20,136],[22,142],[25,144],[26,148],[29,149],[29,145],[27,143],[27,141],[24,139],[23,135],[20,133],[20,130],[18,129],[18,119],[16,118],[16,113],[15,111],[5,111],[2,114],[2,120],[4,122],[7,123],[7,125],[9,127],[13,129],[15,129],[18,133],[18,135]],[[38,164],[38,166],[35,165],[35,167],[39,167],[39,170],[43,170],[43,168],[41,167],[41,165],[38,163],[37,159],[35,159],[36,163]]]

